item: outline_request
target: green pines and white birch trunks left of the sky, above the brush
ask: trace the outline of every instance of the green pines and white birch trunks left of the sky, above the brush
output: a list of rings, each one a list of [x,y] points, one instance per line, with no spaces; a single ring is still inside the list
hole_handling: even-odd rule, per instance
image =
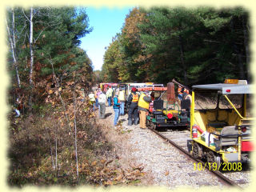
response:
[[[79,48],[80,38],[92,30],[88,19],[86,9],[74,7],[7,10],[11,104],[22,98],[23,106],[37,110],[48,96],[48,84],[92,81],[92,62]]]

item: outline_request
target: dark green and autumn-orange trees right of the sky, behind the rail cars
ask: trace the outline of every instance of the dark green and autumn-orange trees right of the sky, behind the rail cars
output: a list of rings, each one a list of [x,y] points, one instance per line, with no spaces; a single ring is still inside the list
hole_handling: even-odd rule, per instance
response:
[[[135,7],[104,55],[102,82],[184,85],[250,79],[250,18],[242,7]]]

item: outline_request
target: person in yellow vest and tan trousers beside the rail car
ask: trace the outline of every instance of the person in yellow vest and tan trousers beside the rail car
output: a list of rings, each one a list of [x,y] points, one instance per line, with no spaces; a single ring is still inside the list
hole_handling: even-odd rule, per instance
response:
[[[139,126],[146,129],[146,114],[150,108],[151,97],[148,90],[145,90],[138,99]]]

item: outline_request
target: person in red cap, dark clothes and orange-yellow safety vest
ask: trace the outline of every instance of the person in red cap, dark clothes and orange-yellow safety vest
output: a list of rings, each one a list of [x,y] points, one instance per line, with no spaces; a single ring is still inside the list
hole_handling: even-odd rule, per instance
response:
[[[137,89],[133,87],[131,89],[131,93],[128,97],[128,105],[129,111],[128,111],[128,126],[131,126],[133,124],[133,117],[134,117],[134,125],[138,125],[138,98],[139,95],[136,93]]]

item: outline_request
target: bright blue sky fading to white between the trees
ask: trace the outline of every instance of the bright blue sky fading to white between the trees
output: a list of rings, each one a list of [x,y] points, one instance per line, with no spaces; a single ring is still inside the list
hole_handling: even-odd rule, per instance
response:
[[[86,50],[92,60],[94,70],[101,70],[105,47],[110,45],[115,34],[121,32],[126,15],[132,7],[124,8],[94,8],[87,7],[86,14],[89,17],[89,24],[94,28],[90,34],[81,38],[81,48]]]

